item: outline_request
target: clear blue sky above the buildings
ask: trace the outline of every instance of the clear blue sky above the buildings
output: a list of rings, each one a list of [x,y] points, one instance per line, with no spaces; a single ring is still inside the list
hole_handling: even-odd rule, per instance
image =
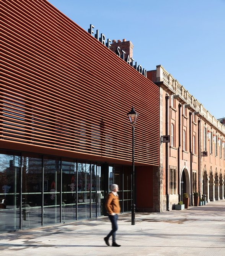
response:
[[[162,65],[215,118],[225,117],[225,0],[49,0],[106,38],[130,40],[135,61]]]

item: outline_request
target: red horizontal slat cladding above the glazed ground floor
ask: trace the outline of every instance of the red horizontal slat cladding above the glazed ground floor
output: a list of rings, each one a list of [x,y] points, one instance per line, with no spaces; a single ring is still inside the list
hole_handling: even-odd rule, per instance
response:
[[[158,87],[44,0],[0,2],[0,138],[158,165]]]

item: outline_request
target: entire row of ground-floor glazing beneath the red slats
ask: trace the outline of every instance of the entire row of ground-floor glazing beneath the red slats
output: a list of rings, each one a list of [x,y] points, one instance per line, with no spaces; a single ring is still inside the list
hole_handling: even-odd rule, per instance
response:
[[[0,152],[0,232],[104,215],[113,183],[121,211],[130,210],[129,166]]]

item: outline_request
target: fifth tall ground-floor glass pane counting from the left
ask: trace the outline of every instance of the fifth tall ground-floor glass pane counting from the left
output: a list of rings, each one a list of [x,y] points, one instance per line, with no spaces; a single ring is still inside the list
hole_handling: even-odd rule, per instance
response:
[[[90,218],[90,164],[77,164],[78,220]]]

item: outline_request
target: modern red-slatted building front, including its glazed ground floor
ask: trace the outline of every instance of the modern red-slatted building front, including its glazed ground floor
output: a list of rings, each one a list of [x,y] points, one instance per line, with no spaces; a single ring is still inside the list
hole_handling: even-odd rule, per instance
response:
[[[2,0],[0,231],[157,210],[158,87],[45,0]],[[156,187],[153,194],[153,185]]]

